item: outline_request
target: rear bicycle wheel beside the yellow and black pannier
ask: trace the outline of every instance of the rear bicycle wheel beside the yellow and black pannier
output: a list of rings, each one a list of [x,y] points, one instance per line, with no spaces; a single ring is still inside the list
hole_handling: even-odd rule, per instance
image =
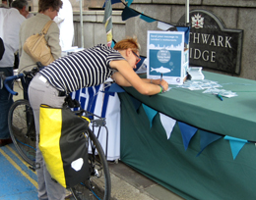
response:
[[[108,200],[111,196],[111,181],[104,152],[94,132],[89,129],[87,134],[91,140],[92,154],[89,154],[90,178],[71,188],[77,200]],[[94,150],[95,149],[95,150]]]

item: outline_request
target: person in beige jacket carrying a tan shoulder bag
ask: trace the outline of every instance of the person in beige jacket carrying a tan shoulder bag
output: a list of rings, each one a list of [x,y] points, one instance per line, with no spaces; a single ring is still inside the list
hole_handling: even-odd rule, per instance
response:
[[[25,21],[21,26],[19,47],[20,64],[18,68],[19,73],[30,71],[33,67],[36,67],[36,63],[32,60],[32,57],[24,51],[24,43],[31,35],[41,32],[43,26],[46,25],[48,21],[52,21],[58,15],[61,7],[61,0],[39,0],[38,13]],[[50,25],[47,33],[45,34],[45,39],[50,47],[53,58],[59,58],[61,56],[61,47],[59,45],[59,28],[56,23],[53,22]],[[28,87],[30,82],[31,78],[22,78],[24,98],[28,100]]]

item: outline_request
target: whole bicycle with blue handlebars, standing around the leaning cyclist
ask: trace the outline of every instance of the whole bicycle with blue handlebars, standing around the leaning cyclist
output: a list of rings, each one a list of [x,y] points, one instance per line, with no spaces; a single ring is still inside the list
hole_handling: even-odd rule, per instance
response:
[[[21,78],[24,75],[25,74],[20,74],[10,77],[4,77],[3,75],[1,75],[1,77],[4,79],[4,85],[8,88],[8,91],[11,94],[16,95],[17,92],[11,90],[6,82],[13,79]],[[88,128],[88,130],[85,132],[86,136],[89,138],[88,142],[90,145],[88,146],[91,146],[88,162],[90,178],[69,189],[76,200],[108,200],[111,196],[111,181],[108,165],[106,162],[106,156],[104,154],[104,151],[99,141],[97,140],[99,131],[97,133],[97,136],[94,133],[95,127],[104,127],[107,132],[105,119],[83,110],[79,102],[76,100],[72,100],[70,96],[67,102],[69,103],[69,107],[71,108],[80,107],[79,111],[74,112],[76,114],[83,115],[89,118],[92,125],[92,129]],[[8,122],[10,134],[18,152],[23,157],[23,159],[30,164],[30,168],[35,171],[39,167],[35,163],[35,128],[33,122],[32,108],[29,101],[24,99],[16,101],[10,109]]]

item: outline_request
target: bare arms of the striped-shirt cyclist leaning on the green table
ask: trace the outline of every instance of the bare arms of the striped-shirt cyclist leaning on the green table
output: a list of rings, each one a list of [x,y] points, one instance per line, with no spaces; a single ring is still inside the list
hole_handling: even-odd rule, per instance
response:
[[[125,60],[111,61],[110,67],[118,71],[111,77],[121,86],[133,86],[141,94],[145,95],[158,94],[162,90],[160,85],[150,83],[150,79],[140,78]],[[160,84],[163,87],[163,91],[167,90],[168,83],[165,80],[161,80]]]

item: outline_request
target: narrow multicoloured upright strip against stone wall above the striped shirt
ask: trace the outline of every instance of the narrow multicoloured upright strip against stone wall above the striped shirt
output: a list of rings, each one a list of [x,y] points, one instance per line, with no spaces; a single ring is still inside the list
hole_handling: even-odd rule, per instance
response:
[[[112,4],[111,0],[105,0],[104,19],[107,46],[112,44]]]

